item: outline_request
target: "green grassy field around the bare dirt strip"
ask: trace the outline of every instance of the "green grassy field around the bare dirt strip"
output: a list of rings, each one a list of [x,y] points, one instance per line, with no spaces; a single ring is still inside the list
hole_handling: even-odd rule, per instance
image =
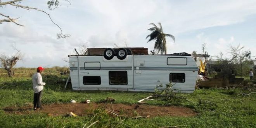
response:
[[[5,107],[31,106],[33,102],[33,89],[31,75],[35,69],[29,69],[26,75],[14,78],[0,77],[0,128],[85,128],[94,121],[99,122],[90,128],[118,127],[118,128],[158,128],[161,126],[179,126],[180,128],[252,128],[256,126],[256,94],[249,97],[238,95],[249,93],[247,90],[230,89],[201,89],[194,93],[176,95],[186,97],[187,100],[173,101],[147,101],[146,104],[154,106],[184,106],[194,109],[198,114],[195,117],[172,117],[158,116],[149,119],[131,119],[123,117],[112,117],[95,109],[97,116],[48,116],[47,114],[7,114]],[[21,72],[23,73],[23,72]],[[3,73],[2,73],[3,75]],[[149,92],[115,92],[115,91],[73,91],[71,85],[64,90],[66,75],[45,71],[43,81],[47,83],[44,89],[42,103],[68,103],[71,99],[78,102],[91,99],[91,102],[111,97],[116,99],[115,104],[137,104],[152,93]],[[194,102],[194,103],[193,103]],[[113,104],[114,105],[114,104]],[[92,119],[92,120],[91,120]]]

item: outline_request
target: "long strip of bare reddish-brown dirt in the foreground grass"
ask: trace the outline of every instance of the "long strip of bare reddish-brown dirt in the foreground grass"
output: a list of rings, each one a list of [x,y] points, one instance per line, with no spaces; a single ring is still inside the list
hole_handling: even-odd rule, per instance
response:
[[[94,109],[103,107],[106,110],[114,111],[117,114],[133,116],[195,116],[197,113],[193,109],[178,106],[147,106],[147,105],[125,105],[125,104],[97,104],[97,103],[73,103],[73,104],[51,104],[43,106],[44,109],[33,111],[32,106],[28,107],[7,107],[3,109],[6,113],[31,114],[47,113],[48,116],[64,116],[70,112],[78,116],[92,114]]]

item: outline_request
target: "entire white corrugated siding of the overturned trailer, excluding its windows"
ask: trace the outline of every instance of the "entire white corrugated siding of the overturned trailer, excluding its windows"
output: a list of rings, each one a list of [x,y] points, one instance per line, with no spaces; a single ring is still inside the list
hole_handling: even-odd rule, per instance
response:
[[[168,57],[186,57],[187,65],[167,65]],[[107,61],[103,56],[75,56],[70,57],[70,61],[79,63],[79,69],[77,67],[77,70],[71,72],[71,80],[73,79],[72,86],[74,90],[128,90],[154,92],[156,85],[163,84],[165,87],[165,84],[170,82],[170,73],[185,73],[185,82],[176,83],[173,86],[173,89],[191,93],[195,88],[198,70],[195,61],[191,56],[128,55],[125,60],[111,60],[115,62]],[[100,69],[85,70],[85,62],[100,62]],[[78,64],[75,64],[75,66],[78,66]],[[75,66],[72,66],[72,69],[75,69]],[[127,71],[128,85],[109,85],[109,71]],[[138,71],[138,73],[136,73],[136,71]],[[83,76],[100,76],[101,85],[83,85]],[[79,86],[78,80],[80,83]]]

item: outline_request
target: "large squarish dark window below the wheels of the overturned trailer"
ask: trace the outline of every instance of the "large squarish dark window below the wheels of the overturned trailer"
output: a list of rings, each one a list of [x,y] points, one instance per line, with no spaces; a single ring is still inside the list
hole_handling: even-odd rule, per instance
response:
[[[109,85],[127,84],[127,71],[109,71]]]

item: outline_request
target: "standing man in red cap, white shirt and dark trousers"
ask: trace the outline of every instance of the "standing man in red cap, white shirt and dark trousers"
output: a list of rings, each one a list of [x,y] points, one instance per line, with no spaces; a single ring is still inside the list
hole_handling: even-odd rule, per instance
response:
[[[43,109],[42,102],[42,95],[43,95],[43,86],[45,83],[43,82],[42,73],[44,71],[43,67],[37,68],[37,73],[33,74],[32,83],[33,83],[33,90],[34,90],[34,110]]]

